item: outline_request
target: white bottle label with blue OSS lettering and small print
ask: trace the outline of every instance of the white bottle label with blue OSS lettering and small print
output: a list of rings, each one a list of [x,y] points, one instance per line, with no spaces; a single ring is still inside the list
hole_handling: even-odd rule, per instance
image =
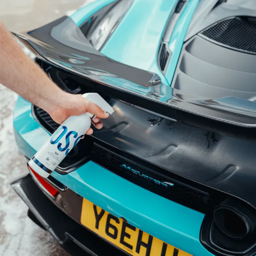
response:
[[[61,125],[50,137],[50,141],[42,146],[35,154],[33,161],[49,173],[53,171],[66,157],[73,147],[83,137],[76,131],[68,131],[65,125]]]

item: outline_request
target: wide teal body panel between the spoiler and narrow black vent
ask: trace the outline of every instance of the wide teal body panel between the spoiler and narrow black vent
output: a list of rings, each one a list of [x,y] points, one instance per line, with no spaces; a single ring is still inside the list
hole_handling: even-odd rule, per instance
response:
[[[158,67],[158,50],[167,20],[177,0],[134,0],[101,53],[132,67],[165,76]]]

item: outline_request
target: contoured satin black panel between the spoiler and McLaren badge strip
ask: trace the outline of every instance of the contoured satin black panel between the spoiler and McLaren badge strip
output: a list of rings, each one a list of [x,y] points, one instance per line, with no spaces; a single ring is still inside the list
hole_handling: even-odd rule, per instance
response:
[[[110,90],[109,87],[93,83],[91,80],[85,83],[83,78],[61,72],[64,79],[64,74],[68,74],[77,85],[80,83],[81,93],[98,92],[116,109],[109,118],[103,120],[103,129],[95,129],[93,136],[86,136],[77,145],[80,148],[78,153],[82,153],[83,157],[90,155],[91,151],[87,149],[93,146],[95,140],[102,141],[170,173],[236,196],[256,207],[256,144],[249,140],[249,135],[244,140],[236,134],[236,129],[230,131],[234,133],[231,137],[212,132],[211,129],[197,128],[156,116],[113,98],[113,95],[117,98],[120,96],[117,90]],[[61,84],[59,80],[54,82]],[[131,97],[131,101],[133,100]],[[47,128],[42,120],[40,122]],[[68,165],[61,173],[74,170],[78,162],[73,162],[72,169],[69,169]]]

